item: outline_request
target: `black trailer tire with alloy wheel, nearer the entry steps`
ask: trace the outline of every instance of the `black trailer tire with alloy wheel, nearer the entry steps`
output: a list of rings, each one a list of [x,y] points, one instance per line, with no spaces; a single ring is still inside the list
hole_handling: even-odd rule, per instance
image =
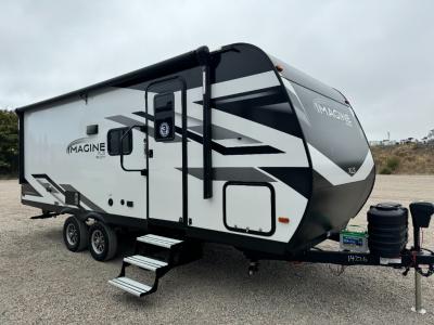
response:
[[[115,231],[105,223],[93,223],[89,229],[89,250],[97,261],[113,259],[117,252]]]

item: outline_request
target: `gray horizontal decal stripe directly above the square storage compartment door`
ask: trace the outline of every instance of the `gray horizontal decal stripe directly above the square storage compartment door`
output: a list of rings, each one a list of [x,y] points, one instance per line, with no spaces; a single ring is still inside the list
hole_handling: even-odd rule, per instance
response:
[[[182,171],[182,168],[177,168]],[[203,180],[203,168],[189,168],[190,176]],[[253,167],[217,167],[213,168],[214,181],[237,182],[276,182],[276,180]]]

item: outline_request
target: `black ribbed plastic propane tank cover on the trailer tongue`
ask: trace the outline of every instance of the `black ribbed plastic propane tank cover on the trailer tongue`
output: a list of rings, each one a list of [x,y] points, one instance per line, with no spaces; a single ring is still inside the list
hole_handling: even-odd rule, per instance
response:
[[[396,203],[371,206],[368,211],[368,235],[372,255],[399,257],[408,239],[408,210]]]

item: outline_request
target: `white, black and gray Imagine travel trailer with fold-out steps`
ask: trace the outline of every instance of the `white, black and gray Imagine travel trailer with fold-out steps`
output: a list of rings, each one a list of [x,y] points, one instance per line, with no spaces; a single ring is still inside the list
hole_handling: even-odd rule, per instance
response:
[[[116,255],[119,231],[142,231],[110,282],[140,297],[204,242],[242,250],[251,273],[259,259],[319,261],[310,249],[346,227],[375,178],[345,96],[246,43],[16,112],[22,203],[42,210],[36,218],[72,214],[66,247],[99,261]],[[379,264],[360,256],[339,263]],[[130,265],[155,272],[154,285],[126,277]]]

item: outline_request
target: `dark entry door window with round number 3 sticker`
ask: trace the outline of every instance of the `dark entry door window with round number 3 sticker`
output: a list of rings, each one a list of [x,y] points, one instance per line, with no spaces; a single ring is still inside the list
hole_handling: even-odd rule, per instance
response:
[[[155,141],[175,139],[175,96],[174,93],[162,93],[154,98]]]

